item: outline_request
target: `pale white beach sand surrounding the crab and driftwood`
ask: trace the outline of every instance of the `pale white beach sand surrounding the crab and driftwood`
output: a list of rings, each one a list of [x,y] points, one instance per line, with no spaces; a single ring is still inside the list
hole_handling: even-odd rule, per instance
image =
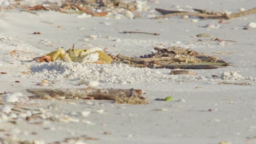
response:
[[[148,5],[149,11],[156,7],[184,10],[193,7],[236,12],[239,8],[252,8],[252,3],[240,0],[159,0],[159,4],[149,2]],[[144,16],[139,19],[86,17],[55,11],[36,13],[38,15],[19,10],[0,12],[0,72],[7,72],[0,74],[0,93],[18,92],[25,96],[19,97],[19,104],[1,102],[0,107],[3,104],[10,107],[21,105],[31,109],[8,113],[9,108],[4,107],[0,112],[0,137],[7,138],[9,134],[13,138],[43,140],[45,143],[63,142],[67,137],[80,135],[98,139],[80,140],[86,143],[247,143],[248,140],[256,143],[256,140],[248,138],[255,136],[256,130],[256,29],[242,29],[248,23],[256,22],[256,15],[238,17],[227,20],[230,23],[219,24],[218,20],[211,19],[195,18],[198,20],[195,23],[181,17],[166,20],[147,18],[149,14],[160,15],[156,11],[136,12]],[[207,24],[217,28],[201,27]],[[120,33],[136,29],[160,35]],[[33,35],[33,32],[42,34]],[[200,33],[237,42],[225,41],[219,44],[218,41],[210,41],[211,38],[191,37]],[[216,56],[232,66],[193,70],[199,73],[196,76],[172,76],[169,75],[171,70],[167,69],[31,61],[33,57],[45,55],[60,47],[69,49],[73,44],[83,49],[98,46],[107,53],[122,53],[125,56],[151,53],[160,44],[184,46],[209,55],[213,55],[212,52],[230,52]],[[9,55],[13,50],[18,51],[15,55]],[[30,69],[30,75],[22,73]],[[211,75],[221,76],[225,71],[226,76],[211,78]],[[237,75],[228,71],[236,71]],[[86,85],[78,84],[80,79],[98,81],[98,88],[143,89],[150,103],[122,105],[101,100],[50,101],[26,98],[31,95],[26,92],[27,88],[85,88]],[[36,85],[41,80],[49,82],[45,86]],[[54,84],[51,83],[53,81]],[[219,82],[249,82],[252,86],[219,85]],[[168,96],[173,101],[154,100]],[[33,112],[42,112],[42,120],[25,121],[26,116],[31,116]],[[55,118],[57,122],[47,120],[49,117]],[[11,118],[18,119],[17,124],[7,122],[12,121]],[[39,124],[34,123],[41,121]],[[103,134],[104,131],[111,134]]]

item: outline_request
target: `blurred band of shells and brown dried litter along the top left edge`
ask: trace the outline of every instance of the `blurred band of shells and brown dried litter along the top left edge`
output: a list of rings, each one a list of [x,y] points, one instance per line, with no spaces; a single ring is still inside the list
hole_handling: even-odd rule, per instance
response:
[[[122,15],[132,19],[135,11],[146,11],[149,9],[147,1],[116,1],[116,0],[99,0],[99,1],[59,1],[58,4],[52,2],[44,2],[44,4],[22,5],[19,2],[11,2],[6,9],[19,8],[21,11],[36,14],[34,10],[55,10],[66,14],[86,14],[90,16],[113,16],[114,14]],[[24,10],[25,8],[25,10]]]

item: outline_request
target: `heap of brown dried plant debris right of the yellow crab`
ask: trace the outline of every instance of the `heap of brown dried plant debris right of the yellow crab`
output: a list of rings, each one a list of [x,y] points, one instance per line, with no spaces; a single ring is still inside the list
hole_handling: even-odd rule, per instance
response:
[[[217,69],[229,64],[218,57],[208,56],[183,47],[154,47],[156,53],[138,57],[126,57],[120,53],[110,55],[113,61],[129,64],[131,67],[166,68],[166,69]],[[114,62],[113,62],[114,63]],[[218,66],[218,67],[217,67]]]

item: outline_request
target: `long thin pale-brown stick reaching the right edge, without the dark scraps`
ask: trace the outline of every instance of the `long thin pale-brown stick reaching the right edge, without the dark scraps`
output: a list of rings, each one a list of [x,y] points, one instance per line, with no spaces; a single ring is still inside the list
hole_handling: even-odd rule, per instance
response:
[[[245,16],[245,15],[250,15],[250,14],[256,14],[256,7],[246,10],[246,11],[241,11],[238,13],[230,14],[230,15],[212,15],[212,14],[202,14],[202,13],[193,13],[193,12],[182,12],[182,13],[172,13],[172,14],[166,14],[162,16],[156,16],[154,19],[162,19],[166,17],[171,17],[171,16],[183,16],[183,15],[189,15],[189,16],[199,16],[203,18],[209,18],[209,19],[232,19],[235,17],[240,17],[240,16]]]

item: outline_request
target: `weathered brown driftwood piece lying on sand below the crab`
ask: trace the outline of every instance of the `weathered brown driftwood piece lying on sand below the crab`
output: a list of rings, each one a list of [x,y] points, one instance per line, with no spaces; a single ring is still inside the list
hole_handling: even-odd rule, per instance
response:
[[[65,97],[65,99],[88,99],[115,100],[120,104],[148,104],[146,98],[142,97],[141,89],[27,89],[34,94],[32,99],[52,99]]]

